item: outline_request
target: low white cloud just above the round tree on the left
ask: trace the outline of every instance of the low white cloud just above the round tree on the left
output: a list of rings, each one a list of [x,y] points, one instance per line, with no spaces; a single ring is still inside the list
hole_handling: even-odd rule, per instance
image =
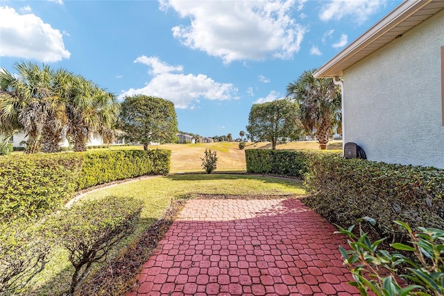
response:
[[[182,65],[171,66],[155,56],[139,56],[134,63],[142,63],[150,67],[153,79],[143,88],[130,88],[119,95],[119,99],[135,94],[162,97],[173,101],[176,108],[194,108],[193,103],[200,99],[227,100],[233,99],[237,88],[232,83],[219,83],[204,74],[182,74]]]

